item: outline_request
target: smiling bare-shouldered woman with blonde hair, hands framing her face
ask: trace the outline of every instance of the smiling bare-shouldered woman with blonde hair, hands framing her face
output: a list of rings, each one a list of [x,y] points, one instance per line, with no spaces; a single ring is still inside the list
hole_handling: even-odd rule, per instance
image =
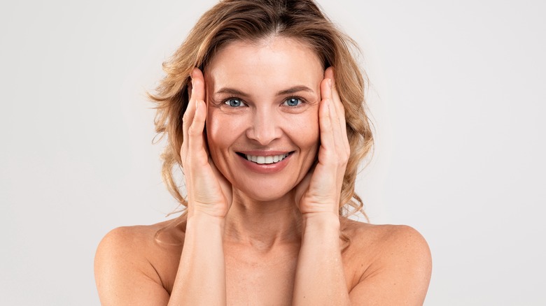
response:
[[[421,235],[345,216],[362,207],[372,145],[350,43],[312,0],[227,0],[202,16],[151,95],[165,181],[187,209],[106,235],[104,305],[423,303]]]

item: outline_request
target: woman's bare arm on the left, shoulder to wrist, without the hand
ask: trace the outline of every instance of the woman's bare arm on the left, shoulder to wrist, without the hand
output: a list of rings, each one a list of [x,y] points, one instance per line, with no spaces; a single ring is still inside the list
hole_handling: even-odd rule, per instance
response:
[[[144,228],[116,228],[100,242],[94,275],[101,305],[225,305],[222,222],[203,214],[188,218],[170,295],[148,259],[157,256],[157,228]]]

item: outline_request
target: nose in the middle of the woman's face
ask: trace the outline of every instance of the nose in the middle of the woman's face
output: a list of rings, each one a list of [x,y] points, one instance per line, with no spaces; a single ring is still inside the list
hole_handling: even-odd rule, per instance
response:
[[[270,110],[258,110],[253,115],[246,136],[260,145],[269,145],[273,140],[281,137],[282,131],[276,119]]]

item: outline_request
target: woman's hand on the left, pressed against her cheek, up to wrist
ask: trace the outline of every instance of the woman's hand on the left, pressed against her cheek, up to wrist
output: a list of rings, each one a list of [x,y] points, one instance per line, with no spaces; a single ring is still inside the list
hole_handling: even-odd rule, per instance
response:
[[[232,202],[230,182],[218,171],[207,152],[204,136],[207,104],[203,73],[194,68],[188,108],[183,116],[181,160],[188,192],[188,217],[208,214],[224,218]]]

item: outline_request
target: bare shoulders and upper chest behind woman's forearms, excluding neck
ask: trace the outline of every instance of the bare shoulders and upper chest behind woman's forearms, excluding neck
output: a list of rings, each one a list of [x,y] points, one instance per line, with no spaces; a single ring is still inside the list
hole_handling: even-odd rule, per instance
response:
[[[167,305],[183,246],[155,242],[166,224],[116,228],[106,235],[95,267],[103,305]],[[176,229],[182,239],[184,226]],[[342,219],[342,229],[351,238],[342,253],[351,305],[422,305],[430,254],[419,233],[349,219]],[[228,305],[291,305],[299,249],[298,243],[262,251],[227,244]]]

